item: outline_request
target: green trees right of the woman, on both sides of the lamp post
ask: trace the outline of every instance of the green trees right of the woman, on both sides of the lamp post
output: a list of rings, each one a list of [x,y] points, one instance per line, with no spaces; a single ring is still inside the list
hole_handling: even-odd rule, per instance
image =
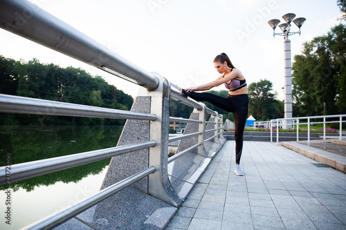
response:
[[[293,117],[346,113],[346,0],[338,0],[343,13],[327,35],[302,45],[292,64]],[[257,120],[284,117],[284,102],[275,99],[272,83],[260,80],[248,86],[249,115]]]

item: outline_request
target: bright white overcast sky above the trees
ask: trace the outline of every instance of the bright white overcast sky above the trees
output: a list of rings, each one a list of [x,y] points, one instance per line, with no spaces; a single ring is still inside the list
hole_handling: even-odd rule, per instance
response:
[[[291,56],[302,44],[340,23],[336,0],[30,0],[118,55],[182,88],[211,82],[213,59],[226,52],[246,82],[267,79],[284,99],[284,38],[268,25],[286,13],[305,17],[291,39]],[[292,32],[298,28],[292,23]],[[281,32],[276,28],[275,32]],[[63,68],[82,68],[136,97],[140,86],[0,29],[0,55],[33,58]],[[218,86],[213,90],[226,90]]]

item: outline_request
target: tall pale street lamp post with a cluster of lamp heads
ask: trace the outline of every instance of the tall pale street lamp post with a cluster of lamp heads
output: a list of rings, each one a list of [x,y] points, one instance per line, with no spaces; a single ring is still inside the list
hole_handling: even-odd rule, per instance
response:
[[[275,28],[279,25],[279,19],[271,19],[268,24],[273,28],[273,36],[280,35],[284,37],[284,118],[292,118],[292,63],[291,63],[291,40],[289,35],[300,35],[300,28],[306,20],[304,17],[295,18],[295,14],[289,13],[282,16],[286,23],[282,23],[279,27],[282,32],[275,32]],[[291,32],[291,22],[298,26],[298,32]],[[283,128],[292,128],[292,120],[284,120]]]

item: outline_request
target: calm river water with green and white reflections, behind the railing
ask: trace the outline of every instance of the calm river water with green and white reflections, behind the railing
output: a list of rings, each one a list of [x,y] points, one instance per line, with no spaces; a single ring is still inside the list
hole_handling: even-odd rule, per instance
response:
[[[0,166],[116,146],[123,126],[0,126]],[[20,229],[100,190],[110,159],[0,187],[0,229]],[[8,192],[10,191],[10,192]],[[10,195],[8,197],[8,195]],[[8,218],[10,209],[10,218]],[[8,222],[8,220],[10,221]]]

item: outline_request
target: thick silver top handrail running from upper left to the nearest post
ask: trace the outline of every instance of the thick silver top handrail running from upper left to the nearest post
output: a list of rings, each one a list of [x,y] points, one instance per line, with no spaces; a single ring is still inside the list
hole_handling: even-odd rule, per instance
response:
[[[20,12],[30,12],[30,23],[18,21]],[[158,87],[157,77],[29,1],[0,1],[0,28],[149,90]]]

